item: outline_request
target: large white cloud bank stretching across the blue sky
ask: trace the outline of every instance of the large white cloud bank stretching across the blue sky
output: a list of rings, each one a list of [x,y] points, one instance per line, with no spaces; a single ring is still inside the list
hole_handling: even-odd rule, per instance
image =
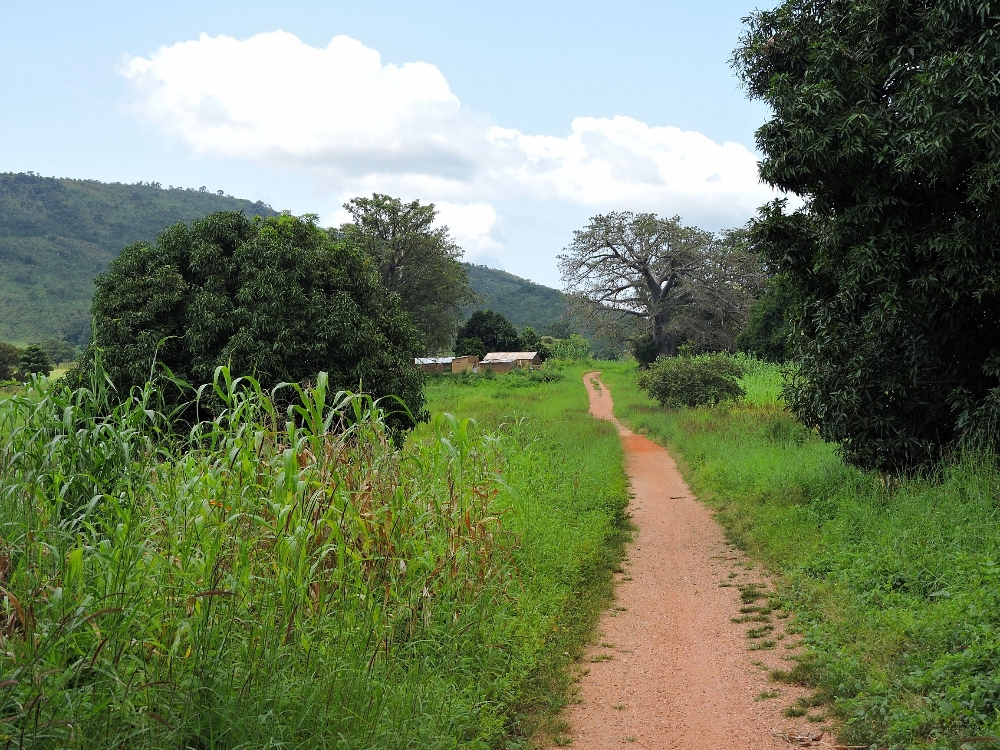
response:
[[[195,153],[297,169],[337,200],[379,191],[434,201],[470,254],[502,251],[498,202],[722,227],[773,195],[739,144],[629,117],[580,117],[566,137],[504,129],[463,110],[435,66],[383,64],[346,36],[318,49],[283,31],[202,35],[129,58],[123,73],[134,113]]]

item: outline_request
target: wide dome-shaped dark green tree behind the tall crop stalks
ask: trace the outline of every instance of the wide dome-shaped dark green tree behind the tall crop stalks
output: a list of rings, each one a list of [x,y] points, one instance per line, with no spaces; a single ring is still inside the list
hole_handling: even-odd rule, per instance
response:
[[[310,218],[221,212],[176,224],[127,247],[96,287],[94,341],[73,385],[88,382],[98,352],[120,394],[146,382],[154,361],[192,384],[220,365],[266,388],[326,371],[331,387],[396,396],[423,416],[419,336],[399,298],[364,252]]]

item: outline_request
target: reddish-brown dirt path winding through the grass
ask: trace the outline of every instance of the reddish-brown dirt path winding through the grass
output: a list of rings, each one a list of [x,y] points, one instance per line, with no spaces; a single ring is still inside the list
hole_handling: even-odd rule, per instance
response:
[[[811,722],[782,714],[808,691],[768,679],[770,669],[790,669],[796,653],[798,637],[786,635],[787,620],[776,616],[783,613],[768,615],[774,630],[757,639],[748,631],[763,623],[731,621],[746,606],[740,587],[769,589],[770,582],[726,542],[670,454],[614,418],[600,373],[588,373],[584,383],[591,413],[614,422],[621,435],[637,532],[616,601],[579,663],[579,690],[557,744],[571,741],[578,750],[835,746],[819,723],[822,707],[809,709]],[[750,650],[754,645],[765,648]]]

